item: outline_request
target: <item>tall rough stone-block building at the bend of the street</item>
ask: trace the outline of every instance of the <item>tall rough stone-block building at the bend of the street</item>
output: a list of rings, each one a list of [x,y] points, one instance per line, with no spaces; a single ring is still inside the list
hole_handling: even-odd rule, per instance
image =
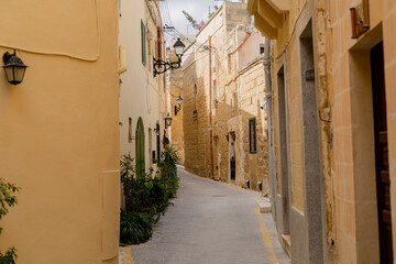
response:
[[[245,3],[224,2],[186,51],[185,166],[204,177],[264,190],[264,37],[251,26],[245,9]]]

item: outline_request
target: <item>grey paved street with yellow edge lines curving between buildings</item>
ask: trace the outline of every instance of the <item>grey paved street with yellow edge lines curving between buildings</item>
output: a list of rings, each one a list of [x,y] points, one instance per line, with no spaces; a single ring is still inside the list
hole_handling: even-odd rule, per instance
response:
[[[258,193],[183,169],[179,177],[175,206],[155,226],[152,240],[121,250],[121,255],[130,258],[125,252],[131,251],[135,264],[289,263],[271,213],[258,212]]]

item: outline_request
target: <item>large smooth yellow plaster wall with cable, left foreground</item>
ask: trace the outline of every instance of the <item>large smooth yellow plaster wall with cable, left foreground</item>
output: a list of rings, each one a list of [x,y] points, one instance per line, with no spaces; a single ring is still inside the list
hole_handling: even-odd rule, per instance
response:
[[[117,2],[10,1],[0,12],[0,54],[16,48],[30,66],[19,86],[0,74],[0,177],[22,187],[0,248],[15,246],[18,263],[116,264]]]

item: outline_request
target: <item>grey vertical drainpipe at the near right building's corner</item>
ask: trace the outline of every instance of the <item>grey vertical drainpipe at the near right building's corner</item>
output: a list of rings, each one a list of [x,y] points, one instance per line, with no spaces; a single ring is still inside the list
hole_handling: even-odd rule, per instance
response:
[[[270,178],[270,199],[272,207],[275,208],[276,194],[276,166],[275,166],[275,146],[274,146],[274,120],[273,120],[273,89],[271,76],[271,40],[265,38],[264,46],[264,70],[265,70],[265,99],[267,109],[267,150],[268,150],[268,178]],[[274,210],[273,210],[273,213]]]

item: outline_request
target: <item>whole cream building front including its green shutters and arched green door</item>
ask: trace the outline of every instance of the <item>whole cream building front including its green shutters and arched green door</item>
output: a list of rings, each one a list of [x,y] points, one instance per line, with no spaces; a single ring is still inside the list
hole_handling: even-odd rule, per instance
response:
[[[165,77],[153,68],[165,58],[163,24],[157,2],[121,1],[119,12],[120,148],[144,173],[156,169],[165,134]]]

